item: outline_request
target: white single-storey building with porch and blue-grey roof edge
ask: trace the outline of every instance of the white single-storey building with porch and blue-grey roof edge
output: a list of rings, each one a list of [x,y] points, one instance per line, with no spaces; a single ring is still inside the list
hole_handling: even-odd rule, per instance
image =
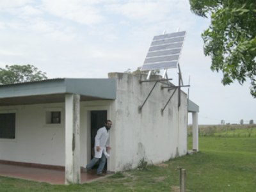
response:
[[[63,166],[66,183],[80,183],[80,167],[90,161],[95,132],[106,119],[113,122],[109,171],[136,168],[143,158],[161,163],[188,153],[188,112],[198,150],[198,106],[152,78],[111,73],[0,86],[0,163]]]

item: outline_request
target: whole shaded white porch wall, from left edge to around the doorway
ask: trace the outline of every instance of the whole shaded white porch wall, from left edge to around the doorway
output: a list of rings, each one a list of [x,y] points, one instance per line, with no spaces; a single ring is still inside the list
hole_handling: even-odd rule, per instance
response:
[[[90,160],[90,111],[107,110],[112,100],[81,102],[81,166]],[[45,124],[47,111],[61,111],[61,124]],[[16,113],[15,139],[0,139],[0,160],[65,166],[65,104],[0,107],[0,113]]]

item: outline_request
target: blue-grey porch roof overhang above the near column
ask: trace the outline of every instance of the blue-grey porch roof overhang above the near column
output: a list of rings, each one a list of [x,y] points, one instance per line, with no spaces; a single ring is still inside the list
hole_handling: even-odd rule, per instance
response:
[[[115,79],[47,79],[0,86],[0,106],[65,102],[66,94],[81,100],[116,99]]]

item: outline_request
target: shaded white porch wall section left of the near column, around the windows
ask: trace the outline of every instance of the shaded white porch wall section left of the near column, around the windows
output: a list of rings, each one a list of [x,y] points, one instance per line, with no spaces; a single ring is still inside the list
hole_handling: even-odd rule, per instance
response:
[[[61,111],[61,124],[46,124],[47,111]],[[1,107],[0,113],[16,113],[15,140],[0,139],[1,160],[65,165],[64,104]]]

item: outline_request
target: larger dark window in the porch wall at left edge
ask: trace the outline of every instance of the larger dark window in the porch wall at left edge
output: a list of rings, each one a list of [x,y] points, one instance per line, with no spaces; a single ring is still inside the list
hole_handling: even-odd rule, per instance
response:
[[[15,113],[0,113],[0,138],[15,139]]]

